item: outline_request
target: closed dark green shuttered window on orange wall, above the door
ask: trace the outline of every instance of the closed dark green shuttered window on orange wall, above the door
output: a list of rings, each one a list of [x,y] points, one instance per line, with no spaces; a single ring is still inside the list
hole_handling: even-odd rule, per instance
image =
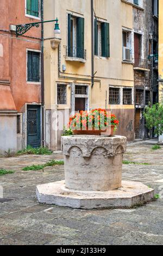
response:
[[[40,52],[28,51],[28,82],[40,82]]]

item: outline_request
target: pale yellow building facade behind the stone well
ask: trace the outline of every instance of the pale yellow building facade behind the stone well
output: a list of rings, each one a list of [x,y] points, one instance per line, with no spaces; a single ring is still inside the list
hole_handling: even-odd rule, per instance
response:
[[[117,15],[118,10],[118,15]],[[70,114],[106,108],[120,119],[117,133],[134,140],[133,4],[121,0],[45,0],[46,146],[60,150]]]

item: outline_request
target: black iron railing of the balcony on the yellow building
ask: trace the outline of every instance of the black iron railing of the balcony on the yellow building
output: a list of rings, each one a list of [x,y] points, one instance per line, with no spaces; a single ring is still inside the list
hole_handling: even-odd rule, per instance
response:
[[[79,47],[66,46],[66,57],[86,59],[86,50]]]

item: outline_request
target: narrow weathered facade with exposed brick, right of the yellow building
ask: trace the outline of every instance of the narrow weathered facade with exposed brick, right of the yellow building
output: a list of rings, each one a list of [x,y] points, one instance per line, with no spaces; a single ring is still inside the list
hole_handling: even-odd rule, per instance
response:
[[[153,137],[143,112],[158,102],[158,0],[139,0],[133,5],[135,139]]]

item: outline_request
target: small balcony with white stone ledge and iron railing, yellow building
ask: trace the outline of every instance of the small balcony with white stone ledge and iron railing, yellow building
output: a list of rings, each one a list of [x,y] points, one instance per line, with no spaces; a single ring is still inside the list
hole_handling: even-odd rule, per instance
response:
[[[86,62],[86,50],[79,47],[66,46],[65,59],[71,62]]]

